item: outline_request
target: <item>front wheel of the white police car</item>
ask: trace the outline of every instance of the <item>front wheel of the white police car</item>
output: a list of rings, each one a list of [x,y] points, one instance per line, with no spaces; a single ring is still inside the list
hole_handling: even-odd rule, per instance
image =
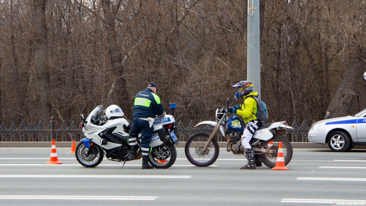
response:
[[[345,132],[336,131],[329,135],[328,146],[333,152],[347,151],[350,145],[350,137]]]

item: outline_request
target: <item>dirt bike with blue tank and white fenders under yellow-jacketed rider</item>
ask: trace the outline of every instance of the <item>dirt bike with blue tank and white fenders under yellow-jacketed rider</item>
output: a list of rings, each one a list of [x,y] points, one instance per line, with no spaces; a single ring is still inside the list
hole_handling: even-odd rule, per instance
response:
[[[234,104],[234,102],[232,103]],[[231,106],[232,106],[231,104]],[[229,105],[229,98],[227,99]],[[229,107],[229,106],[227,106]],[[244,148],[241,147],[241,136],[243,134],[244,122],[238,115],[230,114],[227,108],[216,109],[215,121],[203,121],[195,125],[213,125],[215,128],[210,134],[198,133],[191,136],[184,147],[184,152],[189,162],[195,166],[206,167],[212,165],[219,157],[219,144],[214,137],[217,132],[227,139],[226,151],[235,155],[244,155]],[[264,165],[273,168],[276,165],[279,142],[282,142],[284,161],[287,165],[292,158],[293,150],[290,141],[283,135],[286,129],[294,129],[286,122],[274,122],[260,126],[250,140],[250,145]]]

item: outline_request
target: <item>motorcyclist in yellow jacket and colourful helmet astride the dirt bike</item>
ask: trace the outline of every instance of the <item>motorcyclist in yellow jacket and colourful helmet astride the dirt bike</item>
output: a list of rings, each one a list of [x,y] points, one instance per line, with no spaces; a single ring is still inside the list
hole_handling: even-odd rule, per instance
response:
[[[258,104],[257,101],[250,96],[258,96],[258,93],[253,91],[253,84],[250,81],[240,81],[232,87],[239,87],[235,96],[244,99],[243,104],[235,106],[234,108],[228,108],[231,113],[242,116],[245,123],[244,132],[240,141],[242,147],[245,149],[244,154],[248,163],[240,169],[255,169],[256,166],[262,166],[262,162],[258,155],[254,155],[253,148],[251,148],[249,141],[253,137],[255,130],[257,130],[263,122],[255,116],[255,114],[257,114]]]

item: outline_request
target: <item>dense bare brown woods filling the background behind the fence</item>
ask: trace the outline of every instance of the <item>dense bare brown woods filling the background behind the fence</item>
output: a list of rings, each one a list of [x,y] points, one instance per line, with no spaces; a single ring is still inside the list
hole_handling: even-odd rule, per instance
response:
[[[29,121],[79,121],[99,104],[117,104],[130,117],[133,96],[155,81],[163,105],[177,103],[179,120],[210,119],[246,79],[246,4],[1,1],[0,114],[20,122],[27,104]],[[271,118],[312,122],[365,107],[364,10],[354,0],[260,0],[262,99]]]

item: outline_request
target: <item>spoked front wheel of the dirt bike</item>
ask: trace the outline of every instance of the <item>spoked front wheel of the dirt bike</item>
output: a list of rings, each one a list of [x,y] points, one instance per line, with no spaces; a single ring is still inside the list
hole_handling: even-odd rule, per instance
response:
[[[212,165],[219,157],[219,143],[217,143],[216,139],[212,139],[206,151],[201,154],[201,150],[205,146],[208,137],[209,135],[206,133],[198,133],[187,140],[184,153],[192,165],[207,167]]]

